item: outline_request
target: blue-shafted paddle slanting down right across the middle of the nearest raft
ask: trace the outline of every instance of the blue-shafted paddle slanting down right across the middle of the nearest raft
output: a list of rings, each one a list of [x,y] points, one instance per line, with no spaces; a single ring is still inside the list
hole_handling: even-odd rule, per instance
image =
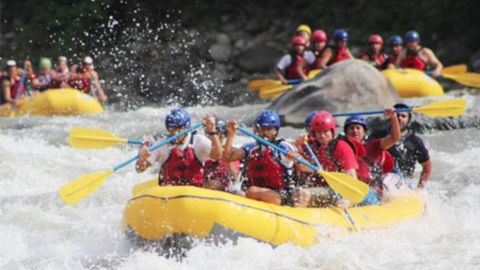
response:
[[[270,143],[267,142],[266,140],[258,137],[257,135],[249,132],[248,130],[238,127],[238,130],[241,132],[245,133],[246,135],[253,137],[257,141],[272,147],[273,149],[279,151],[280,153],[287,155],[287,151]],[[352,201],[354,203],[359,203],[365,199],[365,196],[367,196],[367,193],[369,191],[369,187],[367,184],[350,177],[344,173],[339,173],[339,172],[326,172],[322,171],[312,164],[306,162],[303,159],[300,159],[298,157],[295,158],[296,161],[302,163],[303,165],[307,166],[308,168],[316,171],[318,174],[323,176],[325,178],[325,181],[327,181],[328,185],[338,192],[340,195],[343,197],[347,198],[349,201]]]

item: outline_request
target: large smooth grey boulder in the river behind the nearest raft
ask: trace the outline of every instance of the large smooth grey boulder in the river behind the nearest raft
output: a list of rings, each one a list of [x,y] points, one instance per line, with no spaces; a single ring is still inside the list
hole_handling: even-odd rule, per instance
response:
[[[398,101],[397,91],[382,73],[364,61],[347,60],[285,92],[270,109],[283,116],[286,124],[300,126],[311,111],[381,110]]]

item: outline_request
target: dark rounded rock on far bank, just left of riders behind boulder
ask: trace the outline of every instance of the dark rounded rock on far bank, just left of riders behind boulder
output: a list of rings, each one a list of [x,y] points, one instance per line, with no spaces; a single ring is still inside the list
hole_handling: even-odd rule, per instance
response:
[[[255,73],[273,70],[275,64],[282,57],[282,52],[270,46],[257,46],[242,51],[236,57],[240,69]]]

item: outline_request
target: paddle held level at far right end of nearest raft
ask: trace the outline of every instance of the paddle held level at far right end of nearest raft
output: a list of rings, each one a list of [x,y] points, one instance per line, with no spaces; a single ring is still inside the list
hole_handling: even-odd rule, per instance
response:
[[[450,99],[432,102],[421,107],[412,107],[405,109],[395,109],[394,112],[414,112],[422,113],[430,117],[455,117],[460,116],[465,112],[467,101],[465,99]],[[333,113],[334,117],[351,116],[351,115],[369,115],[369,114],[383,114],[384,111],[363,111],[363,112],[348,112],[348,113]]]

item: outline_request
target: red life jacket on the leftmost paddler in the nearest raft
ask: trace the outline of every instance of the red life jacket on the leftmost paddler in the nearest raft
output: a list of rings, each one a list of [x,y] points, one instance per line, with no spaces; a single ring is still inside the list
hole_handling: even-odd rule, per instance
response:
[[[185,150],[173,147],[160,169],[159,185],[203,186],[203,166],[195,156],[193,137]]]

